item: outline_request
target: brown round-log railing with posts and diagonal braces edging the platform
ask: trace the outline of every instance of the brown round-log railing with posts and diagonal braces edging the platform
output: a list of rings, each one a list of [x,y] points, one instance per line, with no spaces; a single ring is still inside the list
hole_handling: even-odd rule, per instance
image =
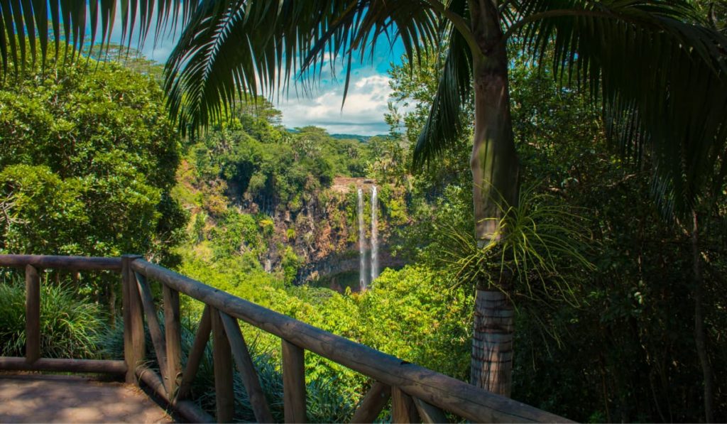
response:
[[[484,391],[473,385],[376,351],[310,326],[199,281],[154,265],[141,257],[121,258],[0,255],[0,267],[25,268],[27,288],[25,358],[0,358],[0,369],[32,371],[108,372],[144,382],[193,422],[214,421],[190,396],[190,387],[207,342],[212,336],[216,420],[229,422],[234,414],[233,372],[236,366],[258,422],[273,421],[239,321],[281,338],[286,423],[306,421],[306,352],[353,369],[373,380],[353,415],[354,423],[371,423],[391,399],[395,423],[442,423],[444,412],[473,422],[564,422],[563,417]],[[124,361],[40,358],[39,273],[47,268],[73,271],[120,271],[123,284]],[[150,281],[161,283],[164,329],[158,321]],[[180,293],[204,303],[196,336],[182,367]],[[145,365],[144,320],[159,365]]]

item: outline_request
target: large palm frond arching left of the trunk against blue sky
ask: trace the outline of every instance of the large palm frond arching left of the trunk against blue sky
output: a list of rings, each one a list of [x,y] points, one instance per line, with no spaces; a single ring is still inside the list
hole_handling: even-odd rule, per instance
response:
[[[402,42],[414,58],[436,36],[435,15],[419,1],[204,0],[167,63],[166,88],[180,128],[204,129],[247,95],[307,90],[325,67],[364,62],[379,37]]]

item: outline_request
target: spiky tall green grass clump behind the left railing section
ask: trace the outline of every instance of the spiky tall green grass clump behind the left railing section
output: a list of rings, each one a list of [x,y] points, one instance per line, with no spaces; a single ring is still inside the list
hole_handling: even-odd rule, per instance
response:
[[[71,289],[41,282],[41,356],[96,359],[105,332],[100,308]],[[9,277],[0,283],[0,354],[25,355],[25,283]]]

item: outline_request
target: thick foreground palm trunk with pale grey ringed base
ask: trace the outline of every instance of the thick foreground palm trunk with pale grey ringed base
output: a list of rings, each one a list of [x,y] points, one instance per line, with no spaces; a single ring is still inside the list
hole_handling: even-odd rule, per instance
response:
[[[518,201],[518,156],[510,119],[507,52],[501,43],[497,7],[470,0],[472,28],[480,52],[473,52],[475,135],[471,158],[475,236],[479,244],[499,239],[499,220]],[[493,276],[499,280],[500,276]],[[507,295],[481,282],[475,300],[470,379],[510,396],[513,369],[513,308]]]

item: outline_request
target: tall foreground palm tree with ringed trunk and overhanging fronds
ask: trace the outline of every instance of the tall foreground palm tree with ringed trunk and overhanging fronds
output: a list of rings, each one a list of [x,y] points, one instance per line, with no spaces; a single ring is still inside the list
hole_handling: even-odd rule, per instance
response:
[[[23,63],[17,56],[26,54],[25,38],[33,57],[39,40],[43,58],[49,34],[76,51],[87,32],[92,43],[96,34],[108,43],[116,5],[116,0],[0,2],[4,70],[11,62]],[[446,45],[414,161],[417,166],[436,161],[462,135],[459,111],[473,101],[475,236],[483,245],[501,236],[502,204],[518,199],[509,55],[528,55],[534,63],[553,57],[558,78],[590,90],[603,104],[609,135],[635,156],[648,153],[655,198],[667,214],[687,216],[704,188],[721,183],[727,170],[727,39],[687,1],[121,0],[120,5],[126,39],[183,25],[165,83],[182,132],[206,128],[246,96],[286,92],[298,72],[310,77],[301,79],[308,88],[331,55],[345,64],[345,98],[350,64],[366,60],[381,36],[401,41],[409,63],[416,63],[422,49]],[[546,49],[553,54],[544,55]],[[719,164],[722,172],[712,172]],[[512,276],[497,278],[507,287]],[[477,287],[472,367],[473,383],[505,396],[513,332],[508,299],[485,281]]]

